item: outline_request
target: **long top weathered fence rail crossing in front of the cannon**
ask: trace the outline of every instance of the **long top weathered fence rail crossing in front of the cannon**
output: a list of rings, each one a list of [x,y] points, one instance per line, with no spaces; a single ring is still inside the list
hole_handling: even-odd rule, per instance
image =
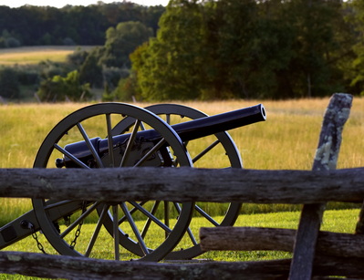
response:
[[[362,202],[364,169],[0,169],[0,197],[181,202]]]

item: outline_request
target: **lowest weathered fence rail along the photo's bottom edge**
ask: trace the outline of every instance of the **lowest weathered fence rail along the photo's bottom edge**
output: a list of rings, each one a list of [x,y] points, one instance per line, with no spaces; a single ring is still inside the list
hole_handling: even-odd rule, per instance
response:
[[[363,258],[317,256],[314,275],[364,275]],[[120,262],[0,252],[0,273],[67,279],[286,279],[290,259],[258,262]],[[315,278],[314,278],[315,279]]]

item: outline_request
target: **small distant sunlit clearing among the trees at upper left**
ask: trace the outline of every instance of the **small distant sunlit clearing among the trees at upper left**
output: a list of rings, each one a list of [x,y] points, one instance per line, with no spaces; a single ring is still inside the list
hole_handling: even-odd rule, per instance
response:
[[[91,46],[80,47],[88,50]],[[41,47],[10,47],[0,48],[0,65],[27,65],[38,64],[41,61],[52,60],[55,62],[66,61],[76,46],[41,46]]]

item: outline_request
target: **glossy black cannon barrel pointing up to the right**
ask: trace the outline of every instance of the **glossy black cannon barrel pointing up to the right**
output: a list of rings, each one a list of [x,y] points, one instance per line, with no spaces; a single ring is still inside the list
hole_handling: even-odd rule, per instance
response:
[[[265,107],[262,104],[258,104],[252,107],[174,124],[172,125],[172,129],[177,132],[182,141],[188,141],[203,138],[225,130],[233,130],[255,122],[264,121],[265,119]],[[161,140],[161,134],[157,130],[139,131],[137,133],[137,138],[141,137],[154,142]],[[112,141],[114,145],[117,145],[118,143],[125,142],[129,138],[130,134],[121,134],[114,136]],[[94,138],[90,141],[100,154],[109,151],[108,139]],[[88,149],[88,145],[85,141],[68,144],[65,147],[65,150],[79,160],[92,157],[91,151]],[[65,160],[69,161],[67,157]]]

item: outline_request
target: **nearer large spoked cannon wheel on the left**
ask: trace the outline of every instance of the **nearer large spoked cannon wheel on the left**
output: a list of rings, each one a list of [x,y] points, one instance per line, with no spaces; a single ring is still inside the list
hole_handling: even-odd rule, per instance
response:
[[[88,142],[89,139],[91,139],[91,133],[96,134],[96,136],[100,135],[99,131],[92,131],[98,126],[97,123],[99,122],[101,122],[100,128],[105,131],[108,139],[112,139],[111,136],[115,135],[115,133],[112,132],[115,131],[112,130],[112,123],[119,123],[120,119],[124,118],[134,119],[134,128],[137,128],[136,130],[141,130],[141,128],[149,126],[149,128],[159,131],[163,140],[168,143],[168,149],[170,149],[171,153],[174,155],[174,162],[178,162],[178,166],[192,166],[191,158],[185,150],[181,139],[160,117],[146,109],[141,109],[128,104],[102,103],[78,109],[76,112],[61,120],[43,141],[37,152],[34,167],[55,167],[54,160],[62,157],[65,153],[67,154],[67,151],[61,147],[78,140],[85,140]],[[132,131],[134,131],[134,129]],[[133,132],[131,134],[133,134]],[[131,138],[132,137],[130,137],[130,139]],[[112,141],[109,141],[109,147],[111,147],[109,150],[112,149],[112,145]],[[71,157],[71,155],[67,156]],[[115,160],[112,160],[112,157],[110,156],[108,157],[110,162],[105,165],[102,163],[104,160],[98,158],[99,156],[94,153],[94,159],[98,162],[99,167],[104,167],[107,164],[118,165],[114,164]],[[77,163],[76,159],[73,159],[72,161]],[[112,161],[114,161],[114,163],[112,163]],[[78,164],[82,165],[79,162]],[[87,165],[83,165],[82,167],[89,168]],[[164,222],[154,215],[154,210],[151,206],[154,204],[153,202],[54,202],[51,200],[35,199],[33,200],[33,207],[41,231],[59,254],[95,257],[94,255],[96,253],[94,251],[96,251],[96,249],[92,249],[94,249],[95,244],[99,242],[101,243],[103,251],[114,253],[113,258],[116,260],[119,260],[120,256],[122,259],[123,256],[120,253],[121,244],[127,248],[128,251],[136,254],[132,256],[133,259],[159,261],[166,254],[170,253],[176,244],[180,242],[192,217],[192,202],[183,203],[182,205],[177,202],[172,203],[175,209],[173,209],[172,213],[167,213],[168,217],[165,217]],[[101,212],[99,212],[99,209],[101,209]],[[65,224],[63,224],[63,220],[61,221],[61,219],[58,218],[58,220],[55,221],[55,218],[53,218],[54,216],[59,217],[59,212],[65,215]],[[144,226],[137,225],[135,222],[133,215],[136,212],[142,213],[144,218],[146,217]],[[81,227],[83,223],[87,223],[86,219],[88,215],[92,215],[92,213],[96,213],[98,223],[96,224],[95,229],[91,233],[85,233],[89,235],[84,237]],[[108,221],[111,221],[112,223],[112,240],[114,242],[111,244],[102,240],[99,241],[101,225],[104,223],[109,224]],[[122,226],[125,228],[122,228]],[[150,246],[150,239],[152,238],[149,236],[149,229],[152,226],[165,235],[161,244],[153,243],[153,245]],[[143,227],[143,229],[141,227]],[[156,234],[161,236],[161,233]],[[85,238],[88,246],[78,249],[77,245],[80,244],[79,240],[81,240],[81,238]],[[129,254],[126,255],[126,257],[130,259]],[[100,258],[110,257],[101,255]]]

